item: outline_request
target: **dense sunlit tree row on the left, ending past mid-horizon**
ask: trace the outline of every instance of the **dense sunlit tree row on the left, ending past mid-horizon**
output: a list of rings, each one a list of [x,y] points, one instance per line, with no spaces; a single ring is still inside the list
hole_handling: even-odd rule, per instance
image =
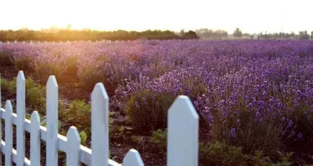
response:
[[[0,31],[0,41],[73,41],[73,40],[135,40],[135,39],[195,39],[199,38],[196,32],[187,31],[175,33],[165,30],[147,30],[137,31],[91,31],[91,30],[59,30],[50,31],[33,31],[21,29],[17,31],[6,30]]]

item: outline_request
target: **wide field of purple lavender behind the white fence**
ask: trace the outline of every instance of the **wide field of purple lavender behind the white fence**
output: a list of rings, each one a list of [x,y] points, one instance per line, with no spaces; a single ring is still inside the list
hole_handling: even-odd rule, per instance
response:
[[[60,86],[81,92],[103,82],[118,112],[111,141],[132,140],[142,154],[166,151],[167,110],[184,94],[201,116],[202,165],[313,164],[312,40],[2,43],[0,65],[1,77],[3,70],[23,70],[38,86],[52,74]],[[28,104],[39,109],[40,102]],[[73,107],[90,111],[85,101],[65,104],[67,113],[59,109],[64,127],[89,121],[68,111]],[[142,141],[154,148],[142,147]]]

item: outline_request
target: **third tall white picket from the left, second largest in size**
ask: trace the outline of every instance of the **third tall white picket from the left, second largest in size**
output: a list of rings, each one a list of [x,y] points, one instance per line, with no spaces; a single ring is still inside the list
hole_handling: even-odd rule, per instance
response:
[[[91,93],[91,150],[92,166],[108,166],[109,96],[102,83],[97,83]]]

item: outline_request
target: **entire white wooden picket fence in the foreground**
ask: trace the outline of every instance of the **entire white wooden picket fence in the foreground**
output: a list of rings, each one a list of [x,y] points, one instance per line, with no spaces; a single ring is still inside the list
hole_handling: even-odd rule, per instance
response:
[[[91,149],[80,145],[75,127],[67,136],[58,133],[58,84],[51,75],[46,84],[46,127],[40,125],[37,111],[31,120],[25,119],[25,77],[17,76],[16,112],[8,100],[0,117],[5,121],[5,142],[0,123],[0,151],[5,156],[5,166],[40,166],[40,142],[46,144],[46,166],[58,165],[58,150],[67,154],[67,166],[81,163],[92,166],[121,166],[109,159],[109,97],[102,83],[97,83],[91,93]],[[0,95],[1,96],[1,95]],[[12,126],[16,126],[16,147],[13,148]],[[25,131],[30,133],[30,159],[25,158]],[[168,111],[168,166],[198,166],[199,116],[187,96],[179,96]],[[1,162],[1,159],[0,159]],[[0,163],[2,165],[2,163]],[[123,166],[144,166],[137,150],[131,149],[123,159]]]

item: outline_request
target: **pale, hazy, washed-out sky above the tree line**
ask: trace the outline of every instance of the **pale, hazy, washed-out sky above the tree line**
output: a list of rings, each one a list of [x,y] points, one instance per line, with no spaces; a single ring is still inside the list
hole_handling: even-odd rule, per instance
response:
[[[313,0],[0,0],[0,29],[313,31]]]

